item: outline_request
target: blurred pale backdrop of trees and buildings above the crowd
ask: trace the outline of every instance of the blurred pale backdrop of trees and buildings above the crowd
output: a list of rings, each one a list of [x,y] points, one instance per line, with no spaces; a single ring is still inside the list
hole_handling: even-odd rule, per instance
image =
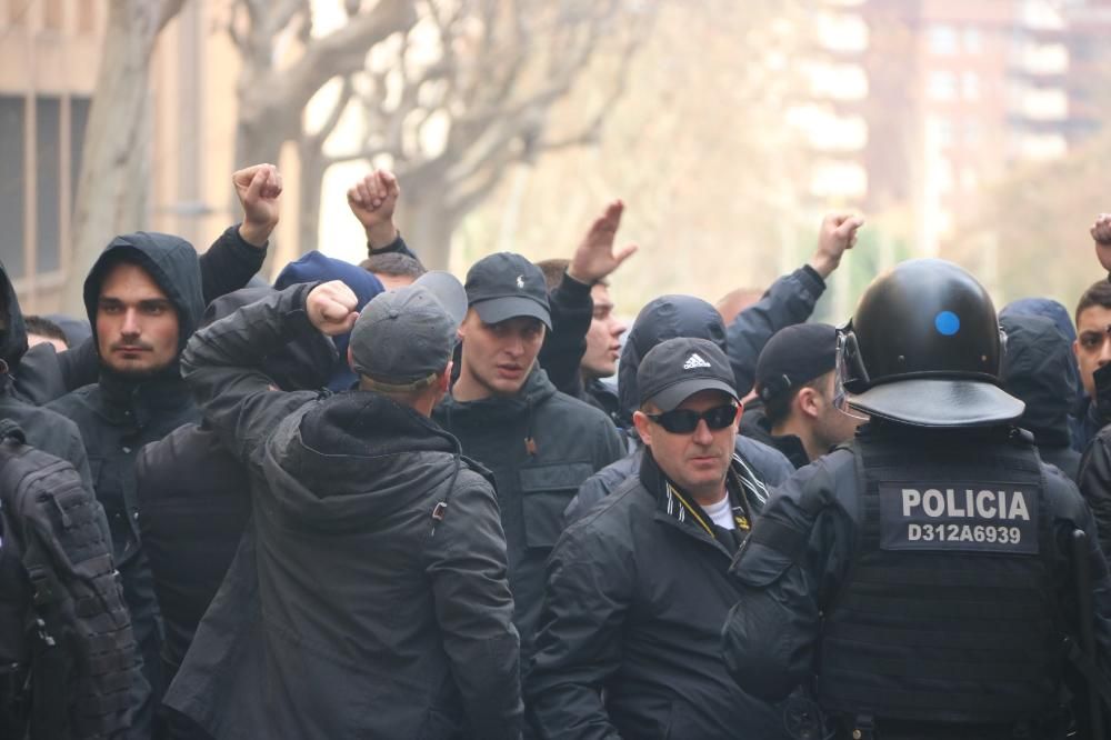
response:
[[[1071,307],[1111,210],[1109,38],[1111,0],[0,0],[0,257],[24,311],[81,316],[112,236],[203,250],[269,161],[274,271],[366,257],[344,194],[384,167],[458,274],[568,257],[622,198],[624,313],[762,289],[839,209],[868,223],[819,318],[914,256]]]

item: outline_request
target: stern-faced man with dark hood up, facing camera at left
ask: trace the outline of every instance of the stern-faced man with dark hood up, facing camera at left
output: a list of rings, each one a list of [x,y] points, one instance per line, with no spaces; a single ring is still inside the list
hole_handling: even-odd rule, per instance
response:
[[[161,629],[150,568],[140,548],[134,461],[143,444],[200,420],[178,368],[178,356],[204,310],[197,251],[169,234],[117,237],[84,281],[84,304],[100,359],[99,381],[49,408],[72,419],[84,440],[143,673],[157,698]],[[137,713],[139,733],[152,722],[152,703]]]

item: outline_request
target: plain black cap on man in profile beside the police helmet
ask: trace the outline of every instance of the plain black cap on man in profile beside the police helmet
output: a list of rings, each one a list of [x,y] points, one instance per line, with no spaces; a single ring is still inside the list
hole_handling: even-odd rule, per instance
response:
[[[797,323],[780,329],[757,359],[755,391],[767,403],[837,366],[837,329],[828,323]]]

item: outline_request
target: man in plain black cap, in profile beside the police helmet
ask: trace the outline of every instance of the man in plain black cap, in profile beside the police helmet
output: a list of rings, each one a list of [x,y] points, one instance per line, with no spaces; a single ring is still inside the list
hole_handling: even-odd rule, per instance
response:
[[[799,323],[781,329],[757,360],[762,406],[744,410],[741,432],[769,444],[795,469],[852,439],[861,419],[833,403],[837,329]]]

